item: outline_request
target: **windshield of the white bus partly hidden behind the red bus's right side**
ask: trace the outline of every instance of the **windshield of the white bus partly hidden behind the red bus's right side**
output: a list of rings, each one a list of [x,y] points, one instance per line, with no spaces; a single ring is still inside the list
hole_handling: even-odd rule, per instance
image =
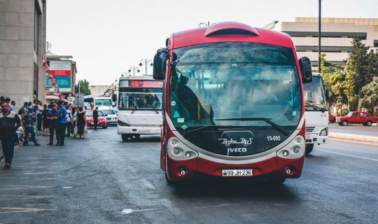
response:
[[[326,111],[324,86],[321,76],[313,76],[312,83],[303,84],[304,106],[306,111]]]

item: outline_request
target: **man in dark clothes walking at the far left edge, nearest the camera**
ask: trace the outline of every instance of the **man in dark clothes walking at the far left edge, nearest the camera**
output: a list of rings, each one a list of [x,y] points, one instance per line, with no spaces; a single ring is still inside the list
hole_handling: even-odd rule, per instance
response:
[[[20,117],[14,111],[10,111],[7,103],[1,103],[2,113],[0,113],[0,140],[5,156],[4,169],[9,169],[13,160],[16,130],[21,126]]]

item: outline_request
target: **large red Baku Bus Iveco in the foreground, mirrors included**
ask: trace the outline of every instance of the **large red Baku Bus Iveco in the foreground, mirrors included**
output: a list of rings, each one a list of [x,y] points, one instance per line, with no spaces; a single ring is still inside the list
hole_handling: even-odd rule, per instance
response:
[[[312,74],[290,36],[238,22],[177,32],[156,53],[153,77],[165,80],[160,167],[168,184],[301,176],[302,82]]]

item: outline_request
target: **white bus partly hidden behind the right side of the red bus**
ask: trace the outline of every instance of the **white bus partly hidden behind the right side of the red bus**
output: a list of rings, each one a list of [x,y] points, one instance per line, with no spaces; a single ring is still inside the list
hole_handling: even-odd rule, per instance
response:
[[[304,116],[306,116],[306,154],[314,144],[328,142],[328,90],[320,73],[312,73],[312,83],[303,84]]]

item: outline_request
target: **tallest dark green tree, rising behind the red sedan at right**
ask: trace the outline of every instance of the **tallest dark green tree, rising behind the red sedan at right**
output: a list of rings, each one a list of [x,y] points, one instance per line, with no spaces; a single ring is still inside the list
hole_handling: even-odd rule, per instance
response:
[[[367,53],[368,46],[361,42],[360,36],[353,38],[351,52],[345,66],[346,80],[345,94],[348,97],[349,110],[359,109],[361,106],[361,92],[363,86],[372,81],[373,53]]]

